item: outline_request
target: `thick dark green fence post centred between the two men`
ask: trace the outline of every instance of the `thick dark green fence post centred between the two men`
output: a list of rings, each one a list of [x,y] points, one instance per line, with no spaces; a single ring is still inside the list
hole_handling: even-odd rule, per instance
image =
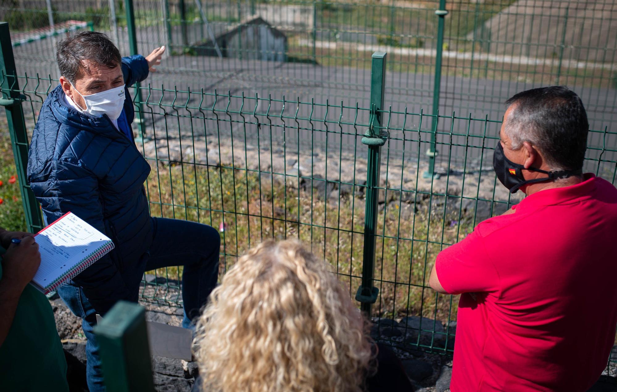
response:
[[[358,287],[355,299],[360,308],[371,316],[371,305],[377,300],[379,289],[373,287],[375,274],[375,231],[377,229],[377,204],[379,195],[379,169],[381,146],[386,143],[387,133],[381,130],[381,113],[384,110],[384,88],[386,86],[386,52],[375,52],[371,63],[371,118],[368,131],[362,143],[368,145],[366,168],[366,205],[364,221],[364,255],[362,258],[362,285]]]

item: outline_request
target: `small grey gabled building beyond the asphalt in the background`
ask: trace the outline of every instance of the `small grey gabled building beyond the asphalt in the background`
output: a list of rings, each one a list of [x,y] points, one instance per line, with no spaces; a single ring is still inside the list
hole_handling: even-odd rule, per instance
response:
[[[250,17],[216,36],[223,57],[263,61],[287,60],[287,36],[261,17]],[[212,41],[194,44],[197,55],[216,56]]]

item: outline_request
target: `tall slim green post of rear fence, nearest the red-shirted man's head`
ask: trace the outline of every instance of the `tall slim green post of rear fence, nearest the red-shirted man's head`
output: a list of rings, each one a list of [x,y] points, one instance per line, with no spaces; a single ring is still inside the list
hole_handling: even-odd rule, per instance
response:
[[[431,133],[431,145],[429,145],[426,151],[428,170],[422,174],[423,178],[431,178],[433,176],[439,178],[439,174],[435,174],[435,157],[437,156],[435,134],[437,132],[437,113],[439,113],[439,90],[441,89],[441,56],[444,51],[444,19],[447,14],[445,0],[439,0],[439,9],[435,11],[439,21],[437,23],[437,55],[435,57],[435,79],[433,83],[433,121],[431,121],[431,131],[433,133]]]

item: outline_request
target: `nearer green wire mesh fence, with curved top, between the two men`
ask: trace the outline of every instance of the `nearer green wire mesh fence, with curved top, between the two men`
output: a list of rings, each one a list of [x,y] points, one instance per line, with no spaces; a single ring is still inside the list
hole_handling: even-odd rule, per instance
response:
[[[57,82],[31,76],[18,80],[31,130]],[[146,189],[153,216],[218,227],[221,272],[263,239],[299,238],[332,264],[354,296],[362,282],[370,168],[361,139],[370,127],[370,109],[340,101],[164,86],[144,86],[141,94],[151,139],[138,147],[152,167]],[[424,332],[415,340],[392,343],[445,353],[452,349],[447,326],[456,319],[457,298],[428,288],[435,256],[482,219],[520,200],[492,171],[500,122],[457,113],[435,118],[392,108],[379,114],[381,126],[376,128],[387,140],[377,188],[373,284],[379,297],[373,316],[427,317],[430,322],[424,319]],[[427,124],[433,120],[438,126],[431,129]],[[421,152],[432,135],[447,157],[447,165],[436,166],[443,174],[439,179],[421,175],[427,166]],[[604,128],[590,137],[600,137],[605,145],[590,147],[586,170],[615,184],[617,133]],[[150,272],[143,298],[180,304],[180,276],[181,267]]]

